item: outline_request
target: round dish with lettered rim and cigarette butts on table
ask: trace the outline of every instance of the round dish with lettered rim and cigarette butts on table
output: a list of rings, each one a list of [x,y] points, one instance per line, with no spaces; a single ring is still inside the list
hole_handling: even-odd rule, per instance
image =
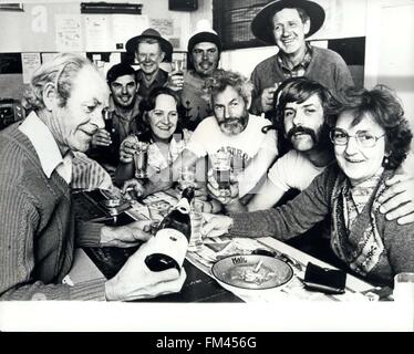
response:
[[[211,267],[216,280],[232,292],[278,288],[293,277],[293,269],[278,258],[240,254],[220,259]]]

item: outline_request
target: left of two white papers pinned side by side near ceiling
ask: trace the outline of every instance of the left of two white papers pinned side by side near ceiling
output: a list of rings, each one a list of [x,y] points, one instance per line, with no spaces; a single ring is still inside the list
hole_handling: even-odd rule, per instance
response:
[[[82,51],[81,17],[77,14],[55,14],[54,20],[58,52]]]

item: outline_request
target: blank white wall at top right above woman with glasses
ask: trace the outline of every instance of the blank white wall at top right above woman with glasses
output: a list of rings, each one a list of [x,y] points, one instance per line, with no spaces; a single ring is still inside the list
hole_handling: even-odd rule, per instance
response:
[[[394,88],[414,131],[414,1],[372,2],[366,31],[365,86]]]

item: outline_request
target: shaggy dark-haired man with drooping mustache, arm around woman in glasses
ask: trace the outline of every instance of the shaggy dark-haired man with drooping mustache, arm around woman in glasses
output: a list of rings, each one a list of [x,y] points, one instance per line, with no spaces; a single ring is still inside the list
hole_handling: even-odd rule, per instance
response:
[[[276,121],[271,128],[278,132],[280,156],[269,169],[268,179],[257,190],[247,206],[237,198],[237,186],[232,185],[232,200],[219,196],[218,186],[210,178],[210,194],[226,204],[229,211],[256,211],[272,208],[293,190],[304,190],[327,166],[334,160],[329,138],[327,119],[340,104],[328,88],[306,77],[284,81],[276,92]],[[270,127],[269,127],[270,128]],[[414,188],[408,164],[394,178],[387,181],[391,187],[382,200],[387,218],[400,222],[414,221]],[[283,199],[282,199],[283,198]]]

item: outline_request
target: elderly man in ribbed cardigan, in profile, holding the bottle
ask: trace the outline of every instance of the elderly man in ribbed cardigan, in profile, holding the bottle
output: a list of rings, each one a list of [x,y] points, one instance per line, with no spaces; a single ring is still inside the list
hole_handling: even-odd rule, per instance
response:
[[[134,300],[177,292],[185,272],[152,272],[151,233],[135,221],[110,227],[74,217],[72,157],[104,126],[105,80],[85,58],[63,53],[33,74],[32,112],[0,134],[0,300]],[[144,243],[143,243],[144,242]],[[73,284],[75,247],[143,243],[117,274]]]

